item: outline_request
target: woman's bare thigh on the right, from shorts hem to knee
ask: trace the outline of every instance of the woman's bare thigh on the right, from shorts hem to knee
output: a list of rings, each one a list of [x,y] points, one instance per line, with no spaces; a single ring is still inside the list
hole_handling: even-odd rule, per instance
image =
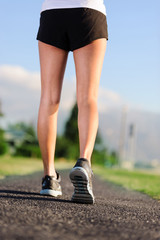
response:
[[[105,50],[106,39],[102,38],[73,52],[78,103],[97,99]]]

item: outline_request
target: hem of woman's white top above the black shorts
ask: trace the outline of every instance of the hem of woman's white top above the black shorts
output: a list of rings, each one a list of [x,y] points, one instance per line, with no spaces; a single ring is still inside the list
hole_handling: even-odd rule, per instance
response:
[[[57,8],[92,8],[106,15],[103,0],[44,0],[42,10]]]

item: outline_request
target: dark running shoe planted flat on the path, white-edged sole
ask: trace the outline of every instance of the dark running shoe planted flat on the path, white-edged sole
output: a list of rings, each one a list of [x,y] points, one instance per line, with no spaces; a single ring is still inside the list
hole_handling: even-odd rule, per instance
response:
[[[53,197],[61,196],[62,189],[59,184],[60,181],[61,177],[59,173],[57,173],[57,178],[54,176],[46,175],[44,178],[42,178],[42,190],[40,191],[40,194]]]

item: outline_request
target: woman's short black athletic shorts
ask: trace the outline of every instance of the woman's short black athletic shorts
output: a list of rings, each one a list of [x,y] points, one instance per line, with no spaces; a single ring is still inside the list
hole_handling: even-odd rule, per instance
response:
[[[51,9],[41,13],[37,40],[74,51],[92,41],[108,40],[106,16],[90,8]]]

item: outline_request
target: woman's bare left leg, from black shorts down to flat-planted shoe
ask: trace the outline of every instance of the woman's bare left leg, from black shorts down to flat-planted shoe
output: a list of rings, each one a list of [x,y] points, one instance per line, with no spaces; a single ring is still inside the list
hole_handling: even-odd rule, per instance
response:
[[[44,175],[56,176],[54,167],[57,115],[68,52],[39,41],[41,99],[38,114],[38,141]]]

